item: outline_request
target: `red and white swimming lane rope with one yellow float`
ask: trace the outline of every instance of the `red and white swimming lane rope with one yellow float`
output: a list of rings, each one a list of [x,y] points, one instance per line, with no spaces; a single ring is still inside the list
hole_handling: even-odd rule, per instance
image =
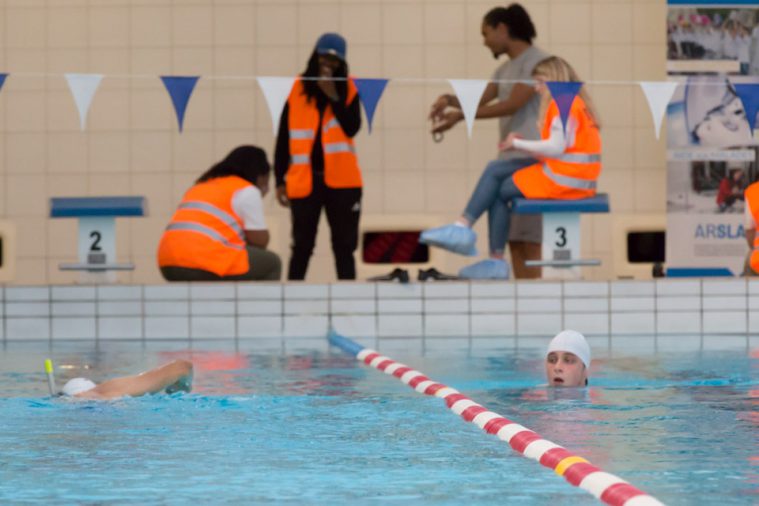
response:
[[[606,473],[586,459],[561,446],[543,439],[539,434],[477,404],[451,387],[431,380],[423,373],[365,348],[334,331],[328,335],[330,344],[356,357],[379,371],[395,376],[419,393],[440,397],[446,406],[467,422],[477,425],[488,434],[509,443],[511,447],[540,464],[553,469],[569,483],[580,487],[602,502],[612,506],[662,505],[654,497],[634,487],[622,478]]]

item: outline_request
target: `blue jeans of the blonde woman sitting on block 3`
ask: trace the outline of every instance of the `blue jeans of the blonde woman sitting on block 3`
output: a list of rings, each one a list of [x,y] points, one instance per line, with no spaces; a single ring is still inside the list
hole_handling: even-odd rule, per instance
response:
[[[511,200],[523,197],[511,176],[519,169],[538,163],[533,158],[493,160],[485,167],[477,186],[464,209],[464,217],[474,225],[482,213],[488,212],[490,252],[502,255],[509,238]]]

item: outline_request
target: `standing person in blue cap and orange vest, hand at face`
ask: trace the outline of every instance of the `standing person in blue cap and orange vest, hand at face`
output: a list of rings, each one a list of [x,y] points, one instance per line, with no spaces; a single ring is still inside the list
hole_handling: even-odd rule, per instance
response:
[[[304,279],[322,208],[332,234],[338,279],[355,279],[361,170],[353,137],[361,127],[358,90],[348,77],[345,39],[325,33],[295,81],[274,153],[277,200],[292,213],[287,278]]]

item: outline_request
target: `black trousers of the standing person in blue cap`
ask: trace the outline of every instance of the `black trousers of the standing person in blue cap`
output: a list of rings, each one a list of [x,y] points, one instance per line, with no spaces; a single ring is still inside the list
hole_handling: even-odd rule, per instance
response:
[[[337,279],[356,279],[353,253],[358,247],[361,188],[329,188],[324,184],[323,177],[317,175],[314,176],[311,195],[290,200],[293,244],[287,279],[306,277],[322,208],[327,213]]]

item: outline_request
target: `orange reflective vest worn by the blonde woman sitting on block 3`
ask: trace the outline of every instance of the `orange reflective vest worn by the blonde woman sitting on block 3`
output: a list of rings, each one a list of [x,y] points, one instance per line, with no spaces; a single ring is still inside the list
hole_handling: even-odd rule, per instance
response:
[[[551,123],[558,116],[559,108],[552,100],[543,123],[543,139],[550,137]],[[575,138],[564,153],[514,174],[514,183],[528,199],[572,200],[596,194],[596,180],[601,173],[601,135],[579,95],[569,110],[569,122],[574,122]],[[571,141],[568,139],[567,144]]]

